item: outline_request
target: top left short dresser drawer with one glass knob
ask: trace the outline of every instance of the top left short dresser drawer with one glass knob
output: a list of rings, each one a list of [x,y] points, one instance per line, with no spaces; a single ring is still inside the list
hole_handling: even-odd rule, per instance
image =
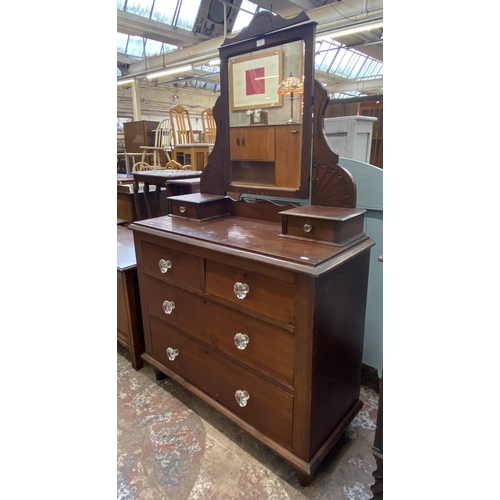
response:
[[[152,243],[142,242],[144,272],[163,281],[202,289],[203,259]]]

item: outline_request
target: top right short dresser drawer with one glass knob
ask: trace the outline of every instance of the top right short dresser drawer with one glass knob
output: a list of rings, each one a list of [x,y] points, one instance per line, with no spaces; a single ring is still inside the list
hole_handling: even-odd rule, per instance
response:
[[[250,311],[295,324],[295,284],[207,261],[206,292]],[[239,293],[239,298],[236,293]]]

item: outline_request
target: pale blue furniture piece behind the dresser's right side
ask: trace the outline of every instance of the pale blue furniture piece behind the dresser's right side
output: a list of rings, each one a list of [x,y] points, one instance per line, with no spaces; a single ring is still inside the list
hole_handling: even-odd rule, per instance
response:
[[[375,246],[370,252],[363,363],[376,368],[379,377],[382,377],[383,265],[378,258],[384,254],[383,170],[351,158],[340,157],[339,165],[354,177],[357,192],[356,207],[367,210],[365,233],[375,241]]]

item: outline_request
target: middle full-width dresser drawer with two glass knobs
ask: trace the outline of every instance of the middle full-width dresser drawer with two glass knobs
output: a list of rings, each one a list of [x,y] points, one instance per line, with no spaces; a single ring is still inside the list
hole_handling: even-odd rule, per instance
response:
[[[146,290],[151,315],[282,384],[293,386],[294,337],[289,331],[149,276]],[[169,313],[163,308],[165,300],[174,303]]]

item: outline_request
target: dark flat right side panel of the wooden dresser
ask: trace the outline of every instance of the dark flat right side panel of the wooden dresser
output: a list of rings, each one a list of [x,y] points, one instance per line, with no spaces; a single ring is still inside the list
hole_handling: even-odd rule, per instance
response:
[[[310,458],[357,403],[370,251],[316,282]]]

